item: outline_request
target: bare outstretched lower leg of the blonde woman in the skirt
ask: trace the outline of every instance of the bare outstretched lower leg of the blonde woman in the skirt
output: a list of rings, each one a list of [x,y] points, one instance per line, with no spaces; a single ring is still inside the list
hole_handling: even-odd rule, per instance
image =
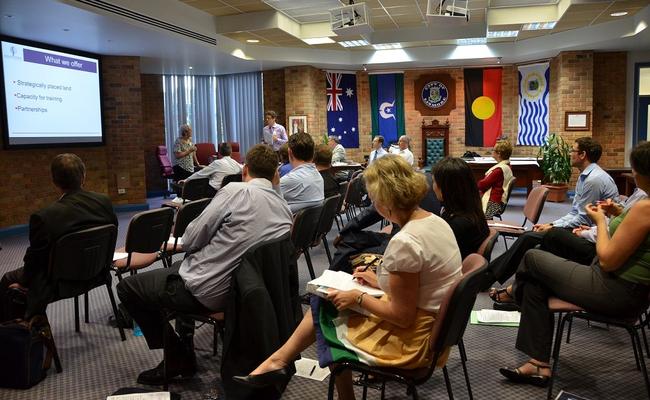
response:
[[[315,341],[316,329],[314,328],[314,322],[311,317],[311,310],[308,310],[289,340],[250,374],[258,375],[286,367],[289,363],[293,362],[298,354],[302,353]]]

